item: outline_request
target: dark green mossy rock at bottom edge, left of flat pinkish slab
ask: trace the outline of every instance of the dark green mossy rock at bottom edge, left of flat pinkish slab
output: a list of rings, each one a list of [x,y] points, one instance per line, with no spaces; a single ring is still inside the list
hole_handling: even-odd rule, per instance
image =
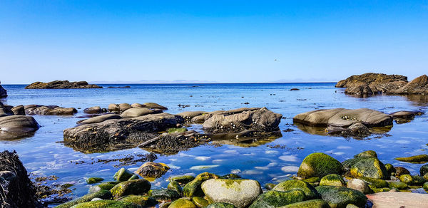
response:
[[[321,194],[322,200],[330,207],[345,208],[347,204],[355,204],[365,207],[367,197],[362,192],[345,187],[320,186],[316,188]]]

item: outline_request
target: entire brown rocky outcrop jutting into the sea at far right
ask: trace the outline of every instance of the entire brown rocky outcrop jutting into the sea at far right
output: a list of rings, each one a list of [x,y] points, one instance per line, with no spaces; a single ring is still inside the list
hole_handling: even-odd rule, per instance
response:
[[[346,88],[346,94],[359,96],[379,94],[426,94],[428,93],[428,76],[419,76],[411,82],[408,82],[406,76],[365,73],[340,80],[336,84],[336,88]]]

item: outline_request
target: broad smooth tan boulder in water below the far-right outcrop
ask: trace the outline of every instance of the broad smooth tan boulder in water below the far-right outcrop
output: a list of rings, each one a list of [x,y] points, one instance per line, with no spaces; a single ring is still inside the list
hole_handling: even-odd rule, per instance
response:
[[[392,116],[367,108],[354,110],[335,108],[300,113],[293,118],[293,122],[302,123],[304,125],[334,126],[341,128],[347,128],[355,123],[362,123],[370,128],[392,125]]]

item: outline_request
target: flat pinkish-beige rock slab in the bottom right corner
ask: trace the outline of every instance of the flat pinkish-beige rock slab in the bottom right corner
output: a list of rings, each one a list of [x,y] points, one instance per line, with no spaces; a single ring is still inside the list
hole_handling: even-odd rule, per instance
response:
[[[428,194],[379,192],[366,196],[373,202],[373,208],[428,207]]]

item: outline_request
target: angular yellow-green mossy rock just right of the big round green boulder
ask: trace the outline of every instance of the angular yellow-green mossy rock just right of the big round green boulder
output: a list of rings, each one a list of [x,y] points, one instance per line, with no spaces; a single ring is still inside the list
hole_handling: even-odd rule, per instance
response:
[[[387,168],[376,157],[357,157],[350,165],[352,177],[372,177],[377,179],[389,179]],[[346,161],[344,163],[347,163]]]

